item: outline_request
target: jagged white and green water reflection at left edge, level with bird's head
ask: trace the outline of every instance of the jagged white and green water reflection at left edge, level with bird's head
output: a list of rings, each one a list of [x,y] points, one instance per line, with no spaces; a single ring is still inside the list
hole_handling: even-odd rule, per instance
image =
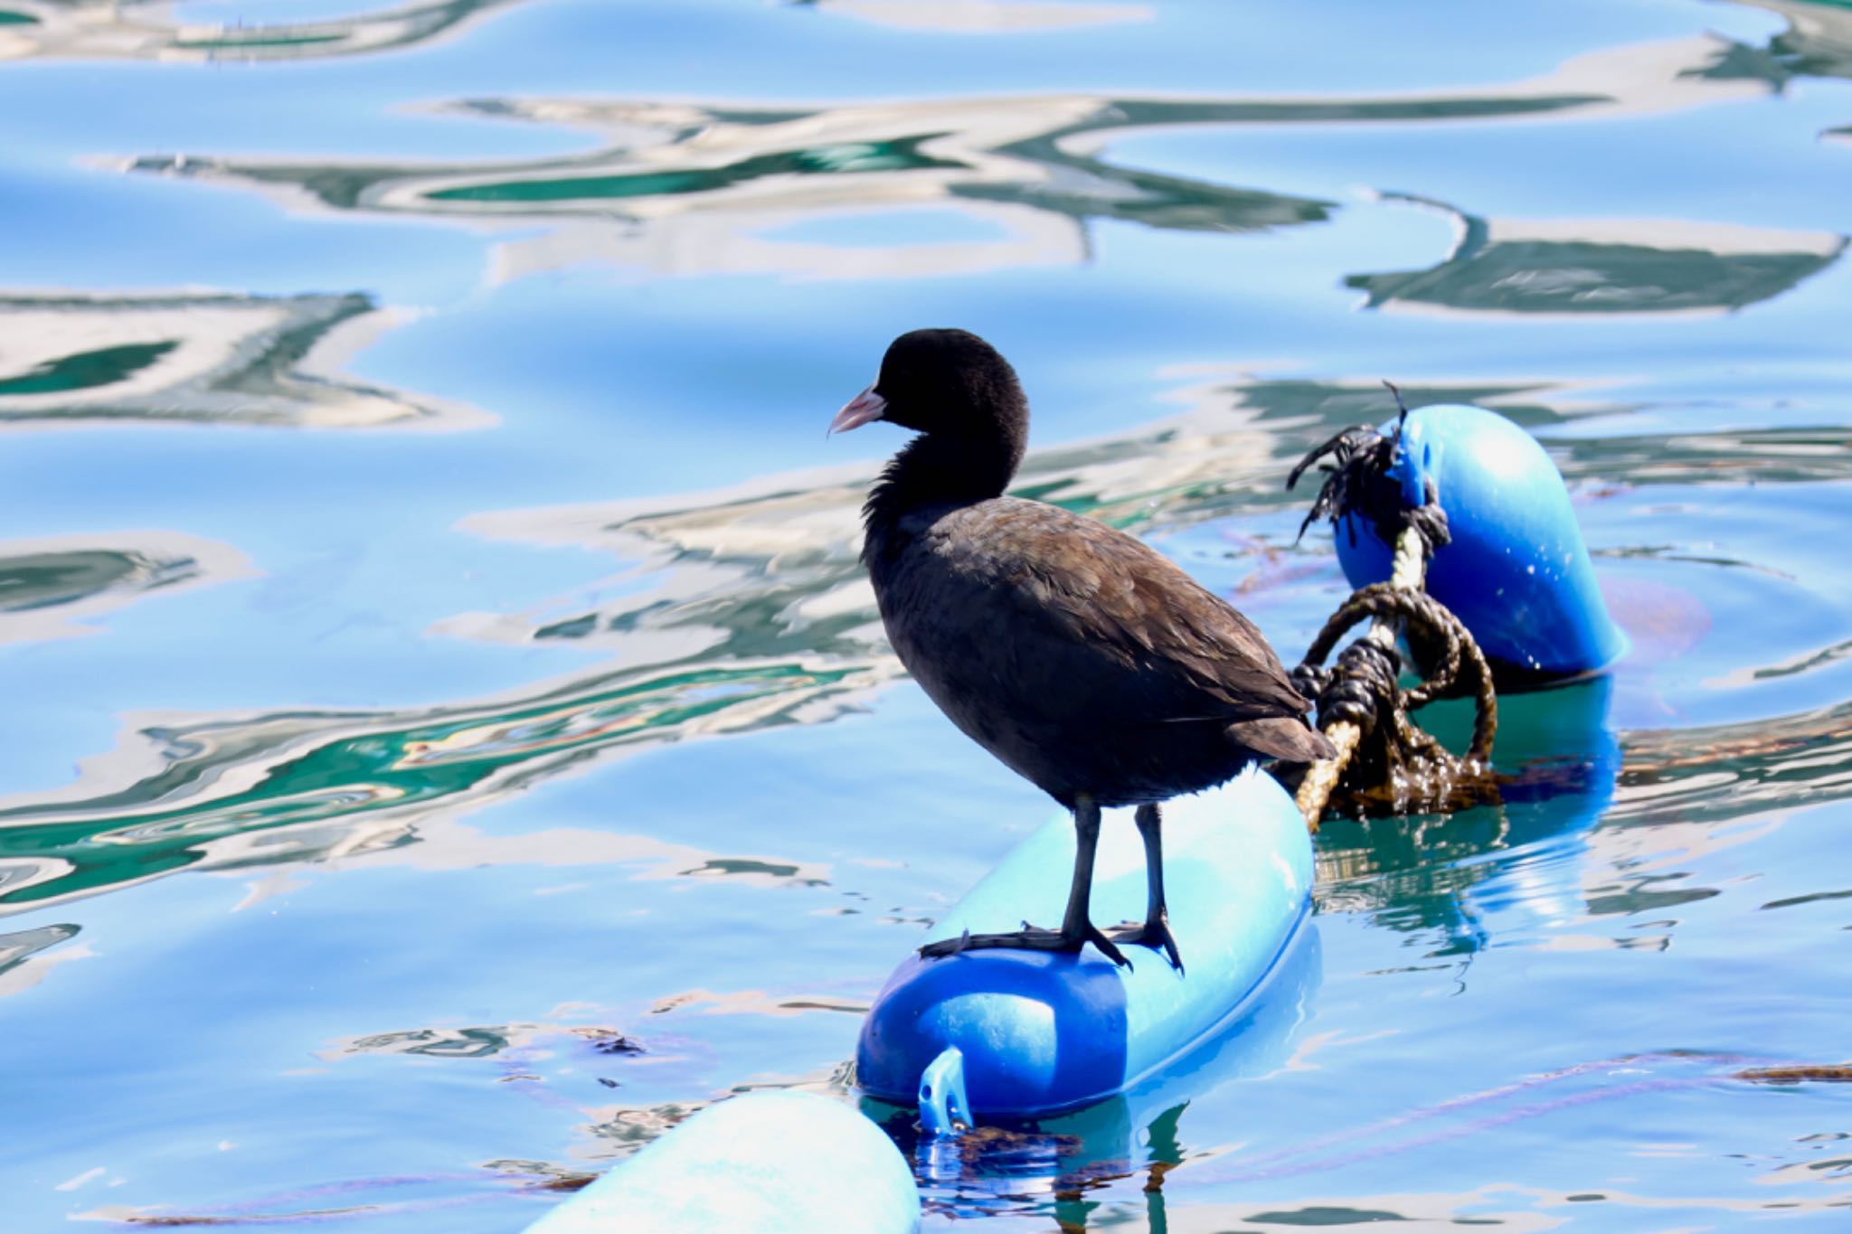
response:
[[[483,427],[461,403],[367,385],[344,361],[404,315],[370,296],[0,296],[0,427],[104,420]]]

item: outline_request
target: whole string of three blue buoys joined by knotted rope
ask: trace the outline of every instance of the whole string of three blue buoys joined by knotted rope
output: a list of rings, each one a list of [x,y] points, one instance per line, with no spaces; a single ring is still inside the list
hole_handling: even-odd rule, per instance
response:
[[[913,953],[895,969],[863,1019],[856,1079],[869,1119],[919,1110],[917,1167],[928,1175],[932,1145],[993,1130],[980,1121],[1035,1127],[1113,1103],[1130,1112],[1139,1093],[1154,1092],[1174,1104],[1169,1086],[1232,1066],[1237,1038],[1261,1051],[1285,1040],[1289,1025],[1272,1012],[1302,1005],[1317,984],[1309,836],[1319,821],[1498,801],[1495,690],[1600,673],[1624,651],[1563,477],[1535,438],[1480,407],[1409,411],[1389,390],[1395,420],[1345,429],[1287,477],[1291,488],[1315,464],[1324,472],[1300,533],[1330,520],[1356,588],[1293,670],[1337,757],[1280,779],[1248,768],[1167,807],[1170,927],[1189,940],[1187,975],[1161,958],[1120,968],[1093,949]],[[1420,685],[1402,685],[1404,662]],[[1461,696],[1472,699],[1474,723],[1456,755],[1411,712]],[[1059,916],[1072,855],[1069,818],[1050,820],[935,923],[933,938],[1009,931],[1024,910]],[[1143,910],[1143,851],[1130,827],[1102,833],[1093,895],[1102,916]],[[1791,1075],[1822,1077],[1745,1079]],[[663,1228],[722,1228],[743,1219],[728,1199],[743,1193],[759,1195],[763,1212],[780,1212],[789,1228],[815,1228],[815,1204],[841,1214],[846,1197],[798,1175],[806,1162],[837,1156],[854,1156],[874,1180],[856,1199],[854,1228],[911,1228],[920,1210],[898,1151],[874,1123],[841,1108],[845,1117],[833,1117],[830,1104],[778,1104],[765,1093],[726,1101],[619,1166],[535,1234],[613,1221],[630,1228],[639,1214],[669,1210]],[[796,1140],[770,1134],[798,1121]],[[793,1164],[782,1149],[796,1141],[804,1160]]]

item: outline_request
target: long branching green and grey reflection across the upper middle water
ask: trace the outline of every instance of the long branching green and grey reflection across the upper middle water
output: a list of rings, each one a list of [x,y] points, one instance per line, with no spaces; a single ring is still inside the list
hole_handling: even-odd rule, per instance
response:
[[[813,176],[863,176],[867,204],[893,204],[885,187],[906,189],[917,202],[924,189],[948,198],[1004,202],[1085,218],[1122,218],[1180,231],[1254,231],[1324,222],[1332,202],[1261,189],[1237,189],[1182,176],[1117,167],[1104,157],[1076,154],[1074,139],[1154,126],[1191,124],[1330,124],[1502,118],[1572,111],[1608,102],[1604,94],[1541,94],[1533,98],[1463,96],[1433,100],[1141,100],[1141,98],[998,98],[985,109],[948,109],[937,102],[906,105],[845,105],[824,111],[754,109],[737,105],[678,105],[594,100],[528,102],[483,98],[454,104],[480,117],[580,126],[617,126],[622,144],[591,155],[528,163],[391,167],[217,159],[211,155],[150,155],[133,170],[226,178],[248,185],[296,185],[333,209],[441,213],[467,205],[532,205],[572,213],[598,202],[685,198],[733,185],[795,178],[780,187],[785,209],[815,205],[798,187]],[[895,137],[896,113],[920,131]],[[637,141],[635,128],[656,130]],[[793,126],[795,131],[785,131]],[[782,144],[824,126],[839,141]],[[717,139],[717,130],[724,139]],[[935,142],[933,152],[922,150]],[[715,148],[745,150],[713,165]],[[644,155],[644,157],[639,157]],[[832,198],[854,204],[854,198]],[[741,200],[750,215],[767,209],[759,198]],[[650,216],[667,226],[670,216]]]

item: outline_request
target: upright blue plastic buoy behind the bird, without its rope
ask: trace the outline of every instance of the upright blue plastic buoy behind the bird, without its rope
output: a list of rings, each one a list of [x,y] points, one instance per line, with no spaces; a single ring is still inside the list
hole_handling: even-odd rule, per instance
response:
[[[1395,431],[1395,420],[1382,427]],[[1428,592],[1467,623],[1495,668],[1574,677],[1626,649],[1563,477],[1530,433],[1482,407],[1419,407],[1402,424],[1391,474],[1409,507],[1426,505],[1432,481],[1452,542],[1428,562]],[[1387,579],[1391,555],[1367,516],[1339,518],[1337,561],[1352,586]]]

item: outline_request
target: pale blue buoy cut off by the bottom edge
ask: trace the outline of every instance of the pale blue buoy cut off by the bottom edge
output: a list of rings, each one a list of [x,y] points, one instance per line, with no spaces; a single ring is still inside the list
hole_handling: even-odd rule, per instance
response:
[[[817,1093],[759,1092],[665,1132],[528,1234],[909,1234],[919,1219],[880,1127]]]

